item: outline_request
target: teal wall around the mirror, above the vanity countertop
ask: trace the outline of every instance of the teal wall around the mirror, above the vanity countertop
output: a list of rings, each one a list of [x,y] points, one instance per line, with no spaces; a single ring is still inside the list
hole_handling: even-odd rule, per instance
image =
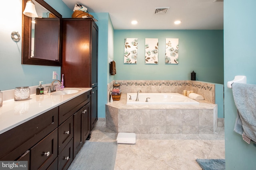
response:
[[[46,2],[54,6],[62,16],[72,14],[62,0]],[[12,5],[12,12],[8,8],[10,4],[15,4]],[[43,84],[52,82],[52,72],[57,71],[60,74],[60,67],[21,64],[21,40],[14,42],[11,39],[12,31],[18,31],[22,36],[22,0],[1,1],[0,18],[0,90],[36,86],[39,81],[43,81]]]

